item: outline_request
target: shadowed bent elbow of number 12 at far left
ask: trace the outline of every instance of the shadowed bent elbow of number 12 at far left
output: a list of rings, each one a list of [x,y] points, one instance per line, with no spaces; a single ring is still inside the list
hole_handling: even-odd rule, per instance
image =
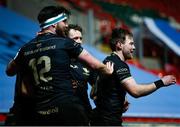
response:
[[[17,74],[17,65],[16,65],[14,59],[8,63],[8,65],[6,67],[6,74],[8,76],[14,76]]]

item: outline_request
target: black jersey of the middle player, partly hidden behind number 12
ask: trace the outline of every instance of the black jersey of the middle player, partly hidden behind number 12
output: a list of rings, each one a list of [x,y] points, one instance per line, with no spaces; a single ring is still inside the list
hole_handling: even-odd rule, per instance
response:
[[[93,69],[87,67],[85,63],[76,59],[71,60],[70,67],[73,77],[74,95],[80,98],[86,110],[89,111],[91,110],[91,105],[87,94],[88,83],[94,84],[96,73]]]

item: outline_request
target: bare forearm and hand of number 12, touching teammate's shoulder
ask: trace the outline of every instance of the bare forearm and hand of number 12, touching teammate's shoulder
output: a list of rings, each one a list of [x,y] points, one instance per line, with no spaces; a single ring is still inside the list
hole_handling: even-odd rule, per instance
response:
[[[85,61],[91,68],[97,69],[104,74],[112,74],[113,72],[112,63],[108,62],[106,65],[104,65],[102,62],[88,53],[88,51],[86,51],[85,49],[83,49],[78,58],[82,61]]]

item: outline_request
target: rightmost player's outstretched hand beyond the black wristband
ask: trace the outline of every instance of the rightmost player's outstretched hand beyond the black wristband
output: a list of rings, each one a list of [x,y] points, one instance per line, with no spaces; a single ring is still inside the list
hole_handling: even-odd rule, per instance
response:
[[[165,86],[169,86],[176,83],[176,77],[173,75],[166,75],[161,78]]]

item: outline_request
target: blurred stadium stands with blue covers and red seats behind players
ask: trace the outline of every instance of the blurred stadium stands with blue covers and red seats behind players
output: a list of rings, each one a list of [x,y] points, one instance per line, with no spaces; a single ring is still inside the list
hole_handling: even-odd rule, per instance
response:
[[[147,97],[128,96],[125,126],[180,125],[180,4],[178,0],[0,0],[0,121],[13,104],[15,77],[5,68],[18,49],[40,30],[36,19],[48,5],[71,11],[69,23],[83,28],[84,47],[99,60],[111,52],[111,30],[134,35],[136,52],[128,61],[137,82],[152,82],[173,74],[177,84]],[[89,87],[89,91],[90,91]],[[95,105],[91,100],[92,107]]]

